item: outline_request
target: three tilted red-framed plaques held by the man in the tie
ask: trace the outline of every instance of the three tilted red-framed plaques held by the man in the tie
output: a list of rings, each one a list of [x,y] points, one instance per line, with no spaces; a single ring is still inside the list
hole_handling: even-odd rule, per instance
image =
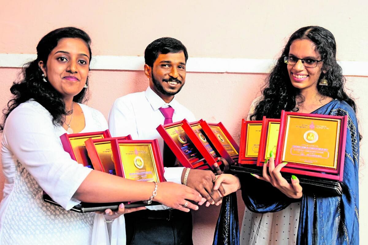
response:
[[[229,164],[238,160],[239,146],[222,123],[184,119],[159,125],[157,131],[184,167],[213,170],[215,163],[222,165],[220,157]]]

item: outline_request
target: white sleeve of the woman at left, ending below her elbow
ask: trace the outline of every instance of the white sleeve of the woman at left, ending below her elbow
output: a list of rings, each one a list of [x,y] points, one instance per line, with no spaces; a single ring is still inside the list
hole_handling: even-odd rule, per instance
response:
[[[7,118],[3,140],[40,187],[69,210],[79,203],[72,196],[91,169],[64,151],[50,119],[32,106],[17,107]]]

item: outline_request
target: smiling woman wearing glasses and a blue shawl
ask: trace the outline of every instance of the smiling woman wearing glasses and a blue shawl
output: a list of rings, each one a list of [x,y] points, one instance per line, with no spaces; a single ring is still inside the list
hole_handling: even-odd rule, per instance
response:
[[[319,26],[294,32],[266,81],[262,96],[250,110],[251,120],[280,118],[281,110],[348,116],[343,195],[326,198],[303,193],[296,176],[289,184],[280,175],[287,163],[275,167],[271,152],[263,177],[254,175],[256,179],[250,176],[240,182],[233,175],[217,179],[215,188],[220,182],[230,192],[242,187],[248,210],[240,241],[256,245],[358,244],[360,134],[355,103],[344,92],[345,78],[336,62],[332,33]]]

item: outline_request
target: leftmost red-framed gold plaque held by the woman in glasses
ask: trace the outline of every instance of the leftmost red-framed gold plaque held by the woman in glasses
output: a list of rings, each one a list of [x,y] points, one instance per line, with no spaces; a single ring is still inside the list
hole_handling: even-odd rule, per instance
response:
[[[262,121],[241,120],[240,164],[256,164],[259,152],[259,142],[261,141]]]

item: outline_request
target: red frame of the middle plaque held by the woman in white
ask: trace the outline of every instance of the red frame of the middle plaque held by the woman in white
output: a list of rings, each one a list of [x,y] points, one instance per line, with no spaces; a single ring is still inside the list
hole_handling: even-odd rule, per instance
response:
[[[89,139],[87,139],[85,141],[86,149],[87,149],[87,152],[88,152],[88,156],[89,156],[89,159],[91,159],[91,162],[92,162],[92,165],[93,165],[93,169],[98,170],[98,171],[101,171],[101,172],[104,172],[104,173],[107,173],[105,171],[105,168],[102,165],[100,156],[99,156],[99,154],[97,152],[97,149],[95,147],[95,143],[109,141],[110,146],[111,146],[111,140],[112,139],[131,140],[132,137],[129,134],[129,135],[123,136],[123,137],[113,137],[113,138],[103,138],[103,139],[92,139],[92,138],[89,138]]]

